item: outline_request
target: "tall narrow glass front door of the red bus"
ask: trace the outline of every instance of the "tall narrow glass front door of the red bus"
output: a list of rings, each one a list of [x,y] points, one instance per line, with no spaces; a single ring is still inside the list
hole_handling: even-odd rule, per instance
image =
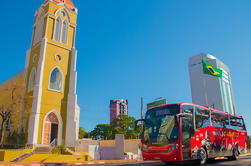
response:
[[[182,113],[185,113],[185,116],[181,117],[181,147],[183,160],[191,160],[191,138],[194,136],[193,112],[193,106],[182,106]]]

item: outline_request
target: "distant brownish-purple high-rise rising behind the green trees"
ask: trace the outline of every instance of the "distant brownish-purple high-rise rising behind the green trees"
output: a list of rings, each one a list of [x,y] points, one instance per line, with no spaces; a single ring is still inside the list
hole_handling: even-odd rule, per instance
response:
[[[111,100],[110,101],[110,122],[120,114],[128,115],[128,100]]]

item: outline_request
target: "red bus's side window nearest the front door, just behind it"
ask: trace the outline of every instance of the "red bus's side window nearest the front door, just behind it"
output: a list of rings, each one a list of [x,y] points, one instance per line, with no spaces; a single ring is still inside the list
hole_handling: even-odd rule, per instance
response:
[[[195,108],[195,124],[196,124],[196,129],[211,126],[210,111],[196,107]]]

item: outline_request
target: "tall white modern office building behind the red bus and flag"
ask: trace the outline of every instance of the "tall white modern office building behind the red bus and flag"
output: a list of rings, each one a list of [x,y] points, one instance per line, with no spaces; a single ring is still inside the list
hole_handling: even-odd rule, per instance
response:
[[[202,59],[221,69],[222,77],[205,74]],[[212,55],[199,54],[189,58],[189,74],[194,104],[236,114],[230,70],[224,63]]]

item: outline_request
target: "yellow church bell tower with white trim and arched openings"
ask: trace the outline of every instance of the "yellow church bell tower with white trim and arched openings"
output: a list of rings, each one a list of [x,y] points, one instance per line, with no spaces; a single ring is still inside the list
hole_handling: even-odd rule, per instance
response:
[[[76,21],[71,0],[45,0],[35,14],[19,128],[28,145],[74,147],[78,139]]]

